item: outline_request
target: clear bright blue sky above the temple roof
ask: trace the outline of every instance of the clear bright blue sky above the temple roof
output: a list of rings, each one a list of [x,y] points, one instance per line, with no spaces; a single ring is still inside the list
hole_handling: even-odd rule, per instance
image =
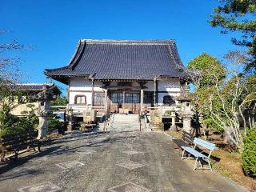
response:
[[[174,38],[186,65],[202,52],[221,58],[234,50],[230,35],[207,23],[217,5],[217,0],[0,0],[0,29],[10,31],[0,41],[34,47],[17,53],[23,82],[45,82],[43,70],[65,66],[79,38]]]

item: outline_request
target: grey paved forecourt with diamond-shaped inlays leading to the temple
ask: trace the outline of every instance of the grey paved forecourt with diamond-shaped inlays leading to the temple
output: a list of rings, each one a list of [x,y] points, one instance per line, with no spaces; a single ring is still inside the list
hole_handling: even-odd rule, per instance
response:
[[[193,162],[180,160],[166,134],[134,126],[74,132],[43,146],[42,153],[0,165],[0,191],[246,191],[209,170],[193,171]]]

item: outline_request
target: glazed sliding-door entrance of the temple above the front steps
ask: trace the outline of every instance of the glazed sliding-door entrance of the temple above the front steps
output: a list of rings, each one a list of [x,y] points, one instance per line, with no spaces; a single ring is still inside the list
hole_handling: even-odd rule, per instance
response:
[[[138,114],[140,93],[132,90],[112,90],[110,92],[110,111],[114,113]]]

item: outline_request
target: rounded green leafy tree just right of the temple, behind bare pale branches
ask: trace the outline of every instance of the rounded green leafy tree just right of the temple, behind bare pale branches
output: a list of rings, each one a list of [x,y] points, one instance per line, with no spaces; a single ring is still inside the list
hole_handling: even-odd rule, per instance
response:
[[[206,102],[211,94],[214,94],[214,84],[216,78],[222,81],[226,76],[226,70],[217,58],[210,54],[203,53],[192,59],[188,63],[188,68],[194,71],[192,81],[194,84],[194,93],[190,95],[192,104],[199,115],[203,115],[203,124],[210,128],[222,132],[222,127],[218,126],[210,116],[209,103]],[[215,77],[217,75],[217,77]],[[216,94],[216,91],[215,91]],[[218,102],[214,103],[215,107],[219,106]]]

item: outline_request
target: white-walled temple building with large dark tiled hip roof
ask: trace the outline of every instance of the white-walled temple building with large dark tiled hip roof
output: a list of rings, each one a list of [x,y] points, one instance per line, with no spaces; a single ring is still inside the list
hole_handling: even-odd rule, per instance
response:
[[[68,86],[68,108],[102,114],[133,113],[173,106],[187,86],[174,40],[91,40],[78,42],[67,66],[45,74]]]

